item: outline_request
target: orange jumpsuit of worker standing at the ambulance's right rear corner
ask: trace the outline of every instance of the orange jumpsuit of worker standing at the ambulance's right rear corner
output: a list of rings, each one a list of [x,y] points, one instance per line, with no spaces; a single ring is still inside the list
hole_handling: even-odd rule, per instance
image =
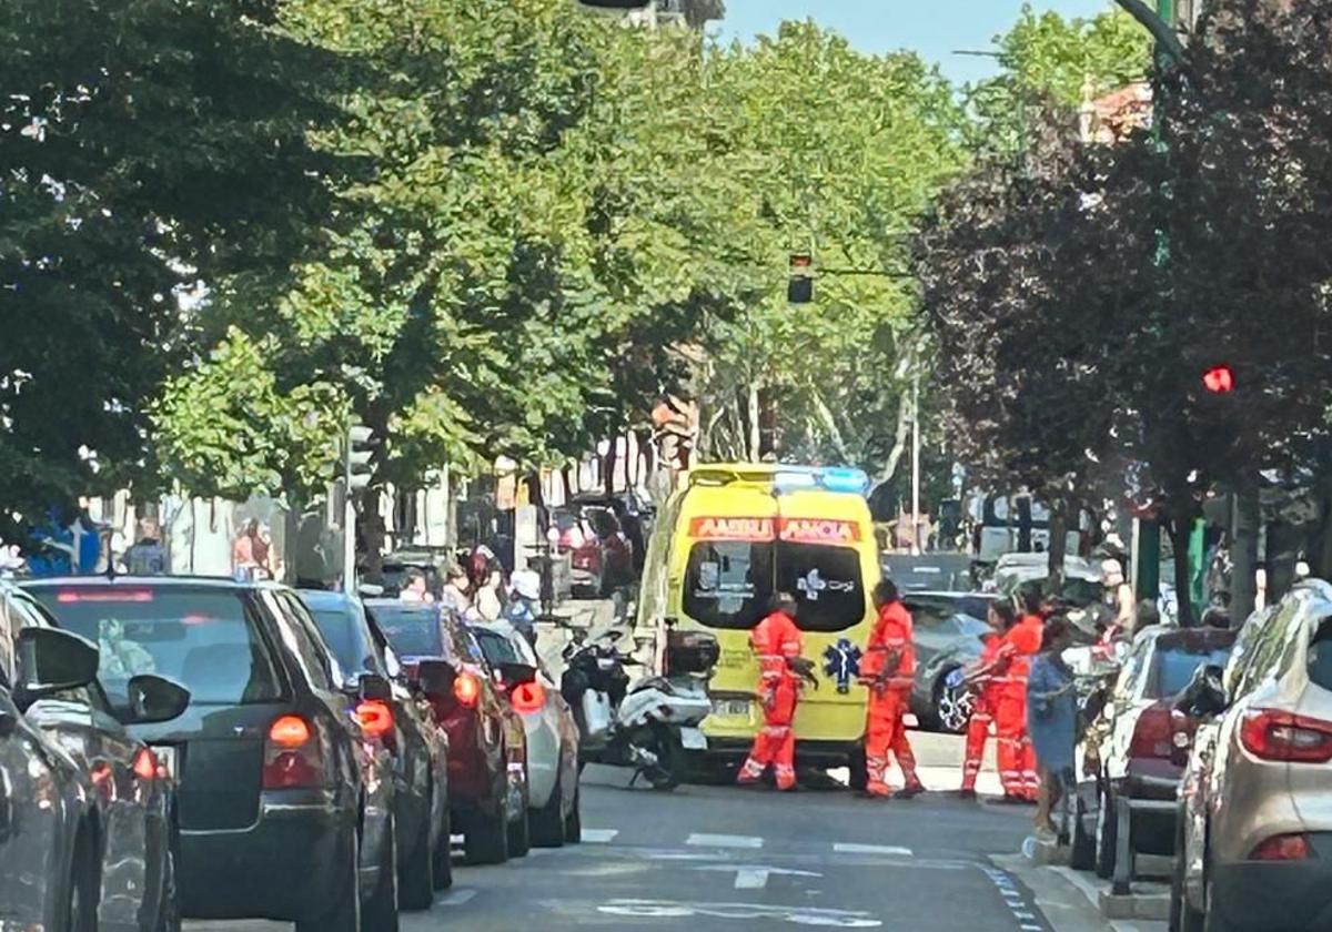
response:
[[[887,683],[878,688],[874,680],[883,671],[890,652],[896,652],[900,662]],[[898,759],[907,787],[920,786],[903,722],[914,674],[911,612],[900,602],[891,602],[879,610],[879,619],[870,632],[870,643],[866,644],[864,659],[860,662],[860,680],[870,687],[864,723],[864,763],[868,771],[866,790],[876,796],[887,796],[890,792],[888,752]]]

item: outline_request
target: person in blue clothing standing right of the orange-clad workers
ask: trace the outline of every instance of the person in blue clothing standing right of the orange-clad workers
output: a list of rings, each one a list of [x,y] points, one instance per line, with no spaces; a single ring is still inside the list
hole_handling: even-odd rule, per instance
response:
[[[1074,671],[1063,652],[1072,644],[1068,623],[1062,618],[1046,622],[1040,654],[1031,663],[1027,680],[1027,715],[1031,742],[1040,767],[1040,798],[1036,803],[1036,831],[1058,835],[1051,812],[1074,782],[1074,743],[1078,731],[1078,694]],[[1063,820],[1060,820],[1063,823]],[[1060,824],[1060,829],[1067,825]]]

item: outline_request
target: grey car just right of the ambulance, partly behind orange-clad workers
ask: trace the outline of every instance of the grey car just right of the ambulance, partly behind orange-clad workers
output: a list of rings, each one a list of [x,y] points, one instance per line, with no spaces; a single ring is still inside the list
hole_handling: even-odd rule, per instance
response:
[[[994,595],[986,592],[903,592],[911,612],[916,651],[911,711],[920,724],[959,734],[971,718],[971,691],[950,687],[948,674],[980,659],[994,635],[984,616]]]

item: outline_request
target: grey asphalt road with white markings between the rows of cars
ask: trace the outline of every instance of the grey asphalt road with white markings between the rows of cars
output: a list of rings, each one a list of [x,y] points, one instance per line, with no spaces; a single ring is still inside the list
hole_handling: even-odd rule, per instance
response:
[[[1016,876],[988,857],[1020,848],[1027,810],[946,794],[875,803],[844,791],[657,794],[626,783],[621,771],[587,768],[582,844],[502,867],[460,865],[434,909],[402,916],[404,932],[1055,929]]]

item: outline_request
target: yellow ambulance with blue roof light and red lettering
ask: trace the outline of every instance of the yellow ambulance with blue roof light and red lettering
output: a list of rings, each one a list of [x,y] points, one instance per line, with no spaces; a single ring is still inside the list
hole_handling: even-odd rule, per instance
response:
[[[750,630],[777,591],[799,604],[818,690],[795,715],[802,763],[859,770],[866,690],[856,683],[874,624],[879,551],[855,469],[777,463],[698,466],[658,513],[638,606],[641,631],[706,630],[721,647],[703,722],[709,758],[743,755],[762,727]]]

